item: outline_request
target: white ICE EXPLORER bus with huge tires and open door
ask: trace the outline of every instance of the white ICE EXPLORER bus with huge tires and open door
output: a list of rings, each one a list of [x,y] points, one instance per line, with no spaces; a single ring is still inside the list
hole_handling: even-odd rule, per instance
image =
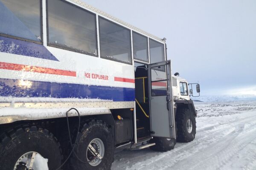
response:
[[[0,170],[110,170],[117,148],[192,141],[166,49],[79,0],[0,0]]]

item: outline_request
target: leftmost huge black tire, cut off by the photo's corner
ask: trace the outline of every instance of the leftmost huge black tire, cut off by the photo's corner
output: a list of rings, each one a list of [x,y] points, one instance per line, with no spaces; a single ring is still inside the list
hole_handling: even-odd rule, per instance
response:
[[[12,130],[3,134],[0,143],[0,169],[14,170],[17,161],[26,153],[39,153],[48,159],[49,170],[61,166],[61,148],[57,139],[48,130],[35,126]],[[15,169],[26,169],[25,162],[20,161]],[[23,164],[23,165],[22,165]],[[21,168],[23,167],[23,168]]]

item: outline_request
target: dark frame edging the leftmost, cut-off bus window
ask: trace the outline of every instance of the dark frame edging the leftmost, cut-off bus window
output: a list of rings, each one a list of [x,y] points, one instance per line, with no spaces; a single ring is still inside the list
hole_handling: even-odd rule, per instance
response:
[[[13,35],[9,35],[9,34],[3,34],[3,33],[0,33],[0,36],[1,37],[7,37],[7,38],[12,38],[12,39],[15,39],[15,40],[21,40],[21,41],[26,41],[26,42],[33,42],[35,44],[41,44],[43,45],[44,44],[44,37],[43,37],[43,31],[44,31],[44,28],[43,28],[43,0],[39,0],[39,5],[40,5],[40,23],[41,23],[41,26],[40,26],[40,32],[41,32],[41,41],[35,41],[35,40],[29,40],[29,39],[26,39],[26,38],[22,38],[22,37],[17,37],[17,36],[13,36]]]

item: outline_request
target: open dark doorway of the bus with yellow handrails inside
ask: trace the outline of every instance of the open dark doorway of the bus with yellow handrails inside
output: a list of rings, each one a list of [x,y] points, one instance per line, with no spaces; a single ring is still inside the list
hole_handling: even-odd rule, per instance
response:
[[[134,62],[135,71],[135,98],[137,140],[143,140],[150,133],[149,103],[148,103],[148,70],[147,65]]]

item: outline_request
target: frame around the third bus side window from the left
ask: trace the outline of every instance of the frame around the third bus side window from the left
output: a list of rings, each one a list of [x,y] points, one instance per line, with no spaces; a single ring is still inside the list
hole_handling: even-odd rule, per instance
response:
[[[122,27],[122,28],[125,28],[125,29],[127,29],[129,32],[130,32],[130,48],[132,47],[132,42],[131,42],[131,29],[129,29],[129,28],[126,28],[125,26],[121,26],[120,24],[118,24],[118,23],[115,23],[115,22],[113,22],[113,21],[111,21],[111,20],[108,20],[107,18],[105,18],[105,17],[102,17],[102,16],[99,16],[98,15],[98,23],[99,23],[99,47],[101,48],[101,43],[100,43],[100,20],[99,19],[103,19],[103,20],[106,20],[106,21],[108,21],[108,22],[110,22],[110,23],[113,23],[113,24],[115,24],[115,25],[117,25],[117,26],[120,26],[120,27]],[[115,62],[121,62],[121,63],[124,63],[124,64],[128,64],[128,65],[133,65],[133,56],[132,56],[132,54],[133,54],[133,51],[132,51],[132,48],[131,48],[131,63],[128,63],[128,62],[124,62],[124,61],[120,61],[120,60],[117,60],[117,59],[112,59],[112,58],[108,58],[108,57],[103,57],[102,56],[102,54],[100,53],[100,58],[102,58],[102,59],[108,59],[108,60],[111,60],[111,61],[115,61]]]

